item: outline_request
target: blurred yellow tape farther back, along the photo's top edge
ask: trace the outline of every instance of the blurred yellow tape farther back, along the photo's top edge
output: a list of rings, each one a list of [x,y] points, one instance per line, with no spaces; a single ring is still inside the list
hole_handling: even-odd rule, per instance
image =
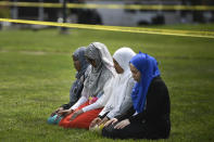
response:
[[[43,2],[9,2],[0,1],[3,7],[42,7],[62,8],[62,3]],[[128,9],[128,10],[186,10],[186,11],[214,11],[213,5],[144,5],[144,4],[89,4],[89,3],[67,3],[68,9]]]

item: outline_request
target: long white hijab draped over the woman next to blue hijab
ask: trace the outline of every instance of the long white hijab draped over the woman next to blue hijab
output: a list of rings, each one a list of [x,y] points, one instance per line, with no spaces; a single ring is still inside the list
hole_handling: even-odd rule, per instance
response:
[[[114,81],[112,82],[111,88],[109,88],[109,90],[112,90],[112,94],[103,111],[100,113],[101,115],[115,107],[121,107],[128,89],[128,81],[131,78],[129,61],[135,55],[136,53],[130,48],[121,48],[114,53],[113,59],[124,69],[124,73],[117,74],[114,78]]]

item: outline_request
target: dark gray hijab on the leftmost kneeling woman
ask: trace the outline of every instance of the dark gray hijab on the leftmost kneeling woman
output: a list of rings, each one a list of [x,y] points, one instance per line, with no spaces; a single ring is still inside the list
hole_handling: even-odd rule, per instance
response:
[[[77,74],[76,74],[77,79],[79,79],[85,74],[85,72],[89,65],[89,63],[85,59],[85,51],[86,51],[86,48],[80,47],[73,53],[74,57],[80,62],[80,70],[77,72]]]

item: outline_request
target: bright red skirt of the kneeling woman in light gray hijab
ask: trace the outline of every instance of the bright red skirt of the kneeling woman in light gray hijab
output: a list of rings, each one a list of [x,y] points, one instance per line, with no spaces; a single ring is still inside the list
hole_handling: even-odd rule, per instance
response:
[[[78,108],[76,108],[75,111],[81,109],[83,107],[89,105],[89,101],[87,101],[86,103],[84,103],[83,105],[80,105]],[[91,109],[88,111],[86,113],[80,114],[79,116],[77,116],[74,120],[70,121],[70,118],[72,117],[72,114],[67,115],[66,117],[64,117],[61,121],[60,121],[60,126],[64,127],[64,128],[85,128],[85,129],[89,129],[89,125],[90,122],[98,117],[98,114],[102,111],[102,108],[97,108],[97,109]]]

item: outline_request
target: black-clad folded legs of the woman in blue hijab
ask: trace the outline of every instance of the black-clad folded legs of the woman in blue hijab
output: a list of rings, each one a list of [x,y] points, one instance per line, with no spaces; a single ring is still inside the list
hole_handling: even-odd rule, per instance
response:
[[[115,124],[116,125],[116,124]],[[148,128],[146,124],[135,124],[126,126],[124,129],[114,129],[115,125],[110,125],[102,129],[102,135],[112,139],[166,139],[168,132],[159,131],[155,128]]]

